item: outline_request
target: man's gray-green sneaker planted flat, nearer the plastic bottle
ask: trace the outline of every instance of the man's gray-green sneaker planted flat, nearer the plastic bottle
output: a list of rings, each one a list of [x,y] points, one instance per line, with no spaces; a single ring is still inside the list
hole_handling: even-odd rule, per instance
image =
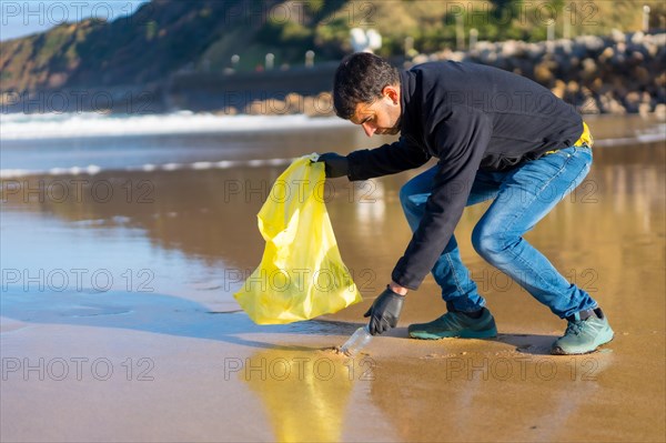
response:
[[[430,323],[410,324],[412,339],[437,340],[460,336],[461,339],[492,339],[497,336],[495,319],[491,311],[483,308],[478,319],[472,319],[462,312],[447,312]]]

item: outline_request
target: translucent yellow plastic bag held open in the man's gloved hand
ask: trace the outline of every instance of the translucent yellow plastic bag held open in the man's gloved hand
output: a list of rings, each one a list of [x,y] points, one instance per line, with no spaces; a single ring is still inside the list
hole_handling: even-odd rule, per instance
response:
[[[233,294],[258,324],[284,324],[337,312],[362,300],[342,262],[324,203],[324,163],[295,160],[258,214],[266,241],[261,264]]]

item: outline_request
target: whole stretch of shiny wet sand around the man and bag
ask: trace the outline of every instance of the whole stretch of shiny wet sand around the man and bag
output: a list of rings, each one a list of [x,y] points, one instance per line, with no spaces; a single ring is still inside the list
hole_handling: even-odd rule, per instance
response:
[[[591,127],[597,139],[632,132]],[[376,144],[356,131],[260,138],[265,149],[239,155]],[[601,144],[585,182],[526,235],[616,332],[581,356],[548,355],[565,323],[473,251],[486,205],[468,208],[456,235],[496,340],[407,339],[410,323],[444,312],[428,276],[397,329],[355,358],[330,350],[363,323],[410,239],[397,193],[418,171],[332,182],[329,213],[364,301],[273,326],[232,293],[261,259],[255,215],[283,167],[32,177],[11,192],[4,181],[0,437],[664,441],[666,148]],[[80,199],[72,180],[88,180]]]

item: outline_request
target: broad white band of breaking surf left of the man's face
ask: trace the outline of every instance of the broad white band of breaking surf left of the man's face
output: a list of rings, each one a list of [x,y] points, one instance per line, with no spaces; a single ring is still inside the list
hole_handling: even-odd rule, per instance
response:
[[[214,115],[180,111],[170,114],[115,115],[2,114],[0,140],[74,139],[185,133],[256,132],[350,124],[339,118],[294,115]]]

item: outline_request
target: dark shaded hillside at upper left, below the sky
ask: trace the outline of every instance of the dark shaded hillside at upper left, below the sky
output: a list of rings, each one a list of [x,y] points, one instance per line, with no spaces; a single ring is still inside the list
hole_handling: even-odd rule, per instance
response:
[[[236,3],[158,0],[110,23],[89,19],[3,42],[2,90],[161,81],[238,27],[220,20]]]

